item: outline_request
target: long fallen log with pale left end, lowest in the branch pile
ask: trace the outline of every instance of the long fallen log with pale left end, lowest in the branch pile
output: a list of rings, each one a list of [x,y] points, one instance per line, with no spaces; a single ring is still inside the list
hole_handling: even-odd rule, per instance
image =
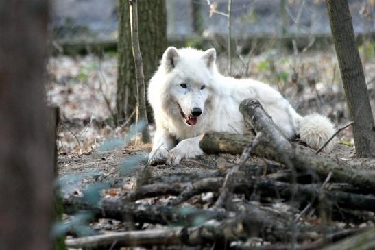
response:
[[[262,212],[239,214],[223,221],[210,220],[196,227],[130,231],[66,240],[66,247],[101,247],[117,242],[123,247],[145,245],[212,245],[218,239],[245,240],[262,236],[265,240],[287,242],[286,221],[270,221]]]

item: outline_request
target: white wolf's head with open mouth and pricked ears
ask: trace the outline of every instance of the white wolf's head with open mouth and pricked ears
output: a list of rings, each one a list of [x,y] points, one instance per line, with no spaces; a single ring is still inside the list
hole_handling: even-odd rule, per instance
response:
[[[165,71],[165,91],[173,100],[170,105],[177,105],[176,109],[169,108],[179,112],[186,125],[193,126],[204,117],[215,94],[212,86],[215,60],[215,49],[199,51],[169,47],[162,56],[160,67]]]

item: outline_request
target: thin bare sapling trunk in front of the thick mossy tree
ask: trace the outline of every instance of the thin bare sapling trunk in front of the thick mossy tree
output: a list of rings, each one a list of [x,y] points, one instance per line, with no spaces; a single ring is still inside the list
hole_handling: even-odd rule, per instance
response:
[[[136,68],[136,86],[138,97],[136,107],[138,108],[139,121],[145,123],[145,127],[142,129],[142,140],[144,143],[147,143],[151,140],[149,138],[148,119],[146,112],[145,75],[143,75],[143,61],[138,39],[138,11],[136,8],[136,0],[130,0],[129,7],[132,51]]]

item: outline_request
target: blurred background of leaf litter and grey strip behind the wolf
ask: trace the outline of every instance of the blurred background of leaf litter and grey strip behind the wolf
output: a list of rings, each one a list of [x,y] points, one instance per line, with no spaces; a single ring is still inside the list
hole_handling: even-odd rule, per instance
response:
[[[156,51],[156,58],[160,59],[169,45],[215,47],[221,73],[271,84],[301,114],[320,112],[336,125],[349,121],[325,1],[233,0],[230,70],[228,0],[162,2],[165,12],[147,10],[164,15],[167,22],[167,42]],[[147,32],[142,23],[148,20],[142,4],[139,1],[138,18],[141,51],[145,53],[152,45],[142,40],[142,33]],[[374,1],[352,0],[349,5],[374,109]],[[112,121],[117,110],[118,16],[119,2],[115,0],[51,1],[46,89],[49,104],[60,107],[60,153],[90,152],[104,138],[123,136],[128,131],[131,108],[121,125]],[[164,27],[158,22],[151,29]],[[154,57],[148,63],[144,58],[146,79],[156,71],[159,59]],[[152,120],[152,113],[148,113]],[[353,145],[347,130],[339,140]]]

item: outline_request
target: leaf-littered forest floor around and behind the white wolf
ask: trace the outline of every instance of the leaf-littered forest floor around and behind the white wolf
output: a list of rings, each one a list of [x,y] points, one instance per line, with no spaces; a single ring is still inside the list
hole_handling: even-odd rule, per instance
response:
[[[345,97],[335,54],[307,53],[275,56],[269,53],[247,59],[249,66],[236,61],[234,75],[274,82],[300,114],[319,112],[332,119],[337,127],[349,122]],[[220,68],[225,60],[219,60]],[[375,77],[375,63],[365,64],[367,79]],[[50,58],[47,101],[60,107],[58,127],[58,181],[62,195],[82,196],[87,190],[99,187],[104,198],[121,197],[134,190],[142,176],[145,159],[151,144],[135,145],[130,125],[112,128],[106,118],[114,110],[117,60],[105,55]],[[247,71],[247,73],[245,73]],[[374,75],[371,75],[374,74]],[[375,86],[370,83],[369,88]],[[372,108],[375,110],[375,92],[370,90]],[[150,129],[153,133],[154,127]],[[336,138],[337,145],[332,158],[353,164],[356,168],[372,168],[375,161],[356,159],[351,129],[343,130]],[[126,138],[126,140],[124,140]],[[240,155],[202,155],[195,160],[183,160],[178,166],[147,166],[149,177],[171,174],[215,171],[228,163],[237,163]],[[251,158],[254,164],[264,164],[262,159]],[[365,163],[365,164],[363,164]],[[171,196],[145,199],[145,203],[165,203]],[[206,206],[209,206],[209,204]],[[71,216],[66,216],[69,221]],[[372,225],[372,222],[368,222]],[[357,227],[359,225],[351,225]],[[363,225],[362,225],[363,226]],[[128,226],[119,221],[99,220],[90,224],[95,230],[119,230]],[[145,225],[143,229],[152,225]],[[345,225],[342,227],[349,227]]]

